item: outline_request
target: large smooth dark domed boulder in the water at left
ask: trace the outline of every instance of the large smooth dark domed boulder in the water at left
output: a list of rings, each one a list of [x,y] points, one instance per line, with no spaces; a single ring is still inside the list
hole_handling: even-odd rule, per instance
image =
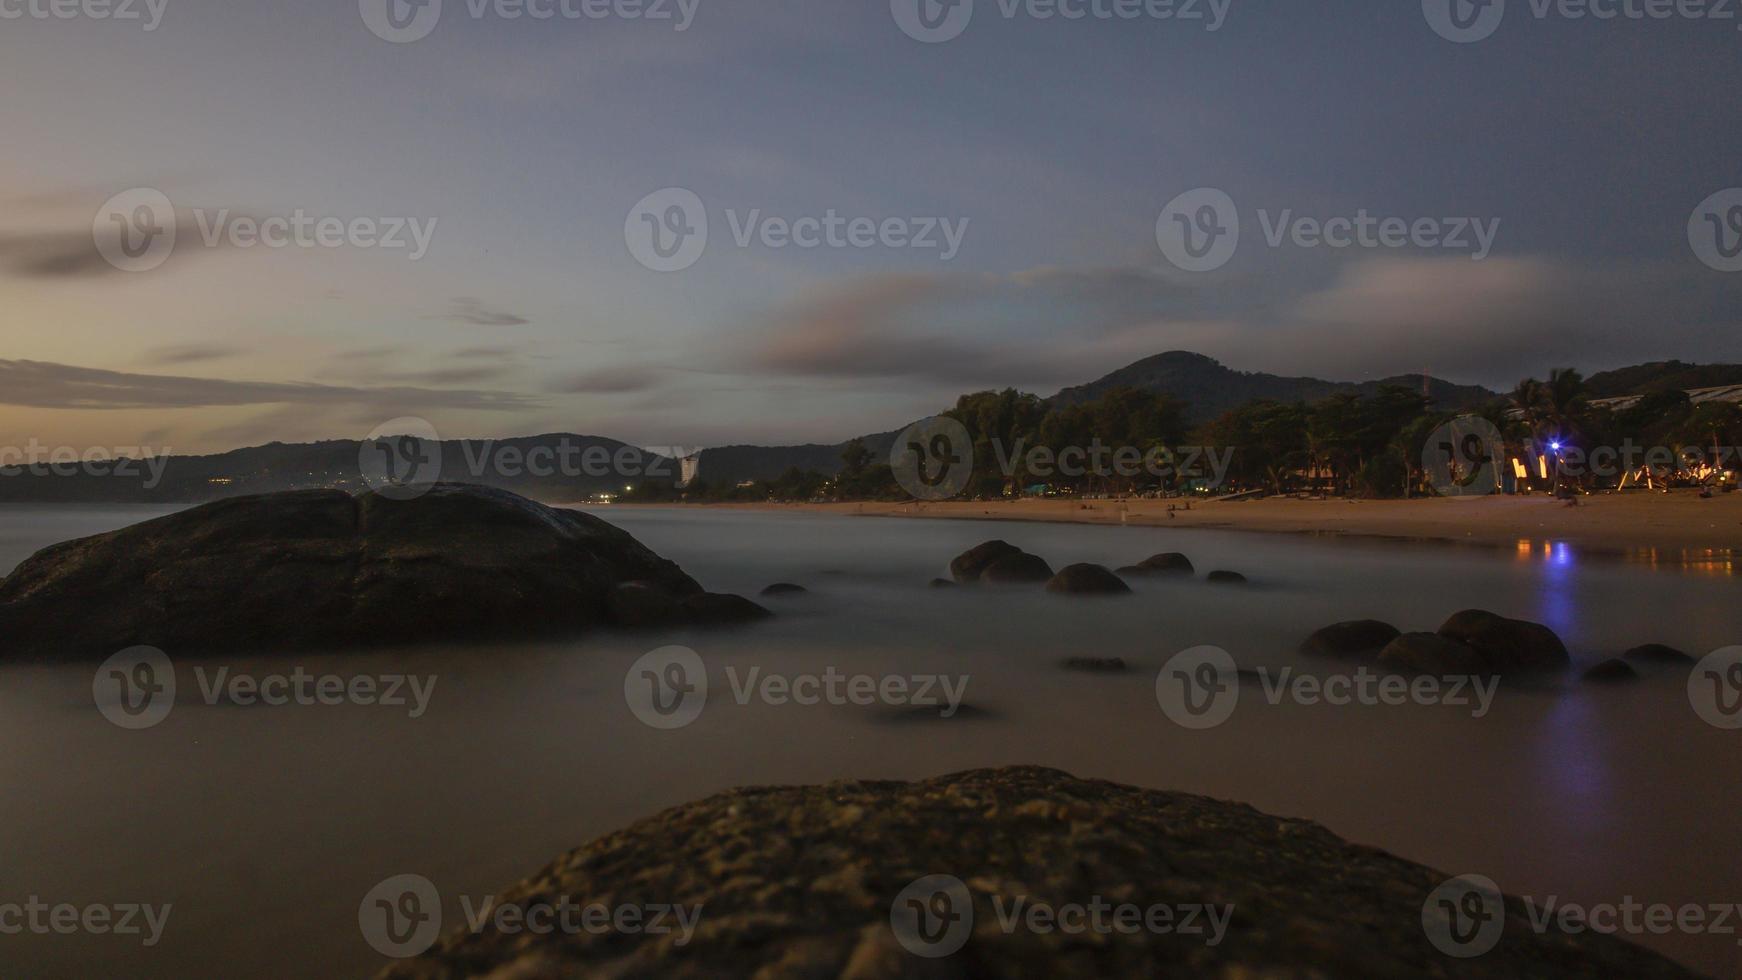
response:
[[[638,588],[618,588],[636,583]],[[441,484],[416,500],[221,500],[37,552],[0,581],[0,653],[106,658],[561,637],[766,614],[598,517]]]

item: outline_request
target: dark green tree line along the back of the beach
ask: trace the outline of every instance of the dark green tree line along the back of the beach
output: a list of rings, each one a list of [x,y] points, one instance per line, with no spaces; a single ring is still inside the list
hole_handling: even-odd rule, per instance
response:
[[[1338,393],[1317,402],[1254,400],[1193,425],[1190,406],[1158,392],[1113,388],[1099,399],[1054,404],[1030,392],[974,392],[944,413],[972,439],[972,480],[962,498],[996,500],[1047,494],[1174,494],[1188,491],[1275,494],[1319,491],[1354,498],[1432,494],[1421,454],[1428,437],[1462,414],[1475,414],[1500,432],[1509,456],[1535,458],[1547,446],[1590,451],[1597,446],[1733,447],[1742,444],[1742,406],[1691,404],[1681,390],[1651,392],[1611,411],[1592,406],[1583,376],[1563,367],[1547,379],[1526,378],[1505,397],[1474,411],[1439,411],[1404,386],[1371,395]],[[1146,467],[1141,472],[1061,472],[1056,461],[1089,446],[1129,447],[1144,460],[1190,460],[1186,447],[1232,449],[1226,470],[1195,465]],[[1035,453],[1035,451],[1040,453]],[[1718,461],[1718,456],[1712,454]],[[1496,461],[1502,463],[1503,461]],[[1216,486],[1207,486],[1211,477]],[[1563,487],[1559,472],[1556,489]],[[1589,475],[1564,486],[1592,487]],[[1594,489],[1594,487],[1592,487]],[[638,487],[625,500],[690,501],[869,501],[906,500],[890,460],[864,440],[841,453],[836,473],[789,468],[747,486],[709,484]]]

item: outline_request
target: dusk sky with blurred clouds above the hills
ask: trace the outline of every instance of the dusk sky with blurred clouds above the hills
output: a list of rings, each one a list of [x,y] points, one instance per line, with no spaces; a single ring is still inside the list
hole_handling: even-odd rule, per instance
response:
[[[0,0],[0,444],[1742,360],[1733,5],[563,2]]]

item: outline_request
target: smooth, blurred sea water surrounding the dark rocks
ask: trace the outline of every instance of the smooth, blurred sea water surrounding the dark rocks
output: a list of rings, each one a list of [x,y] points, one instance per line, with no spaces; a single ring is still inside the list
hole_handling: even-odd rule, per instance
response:
[[[7,851],[5,881],[176,902],[146,959],[122,945],[70,957],[26,942],[9,950],[23,975],[364,975],[380,961],[355,933],[355,905],[390,874],[486,895],[566,848],[732,785],[1014,762],[1239,799],[1516,893],[1583,903],[1742,896],[1732,830],[1742,740],[1704,726],[1671,670],[1620,689],[1564,681],[1502,691],[1486,717],[1268,705],[1242,693],[1235,717],[1207,733],[1167,722],[1153,691],[1165,658],[1190,646],[1223,646],[1244,667],[1319,672],[1293,653],[1312,628],[1373,616],[1432,630],[1465,607],[1545,621],[1582,665],[1643,642],[1704,653],[1742,641],[1730,581],[1552,541],[1523,543],[1512,560],[1486,548],[1202,529],[601,513],[711,588],[812,588],[768,601],[779,618],[753,630],[678,637],[704,654],[714,689],[728,691],[716,674],[726,667],[949,672],[972,679],[969,703],[982,712],[890,724],[876,710],[711,700],[690,729],[652,731],[622,703],[624,672],[672,637],[301,658],[319,670],[437,674],[418,721],[178,703],[162,726],[124,733],[91,708],[85,668],[3,670],[0,839],[30,841]],[[0,567],[145,515],[0,512]],[[1143,583],[1110,602],[927,588],[951,555],[988,538],[1054,567],[1179,550],[1200,574],[1235,569],[1252,585]],[[1061,672],[1073,654],[1122,656],[1132,672]],[[1718,936],[1646,942],[1709,973],[1733,968],[1735,949]]]

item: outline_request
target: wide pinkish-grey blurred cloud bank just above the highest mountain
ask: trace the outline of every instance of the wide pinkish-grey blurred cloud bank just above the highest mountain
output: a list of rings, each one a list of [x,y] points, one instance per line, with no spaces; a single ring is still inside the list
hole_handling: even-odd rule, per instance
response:
[[[1371,379],[1428,369],[1510,385],[1573,364],[1735,360],[1742,280],[1688,263],[1366,258],[1275,292],[1136,268],[880,277],[803,298],[739,338],[744,371],[1050,393],[1167,350],[1242,371]]]

